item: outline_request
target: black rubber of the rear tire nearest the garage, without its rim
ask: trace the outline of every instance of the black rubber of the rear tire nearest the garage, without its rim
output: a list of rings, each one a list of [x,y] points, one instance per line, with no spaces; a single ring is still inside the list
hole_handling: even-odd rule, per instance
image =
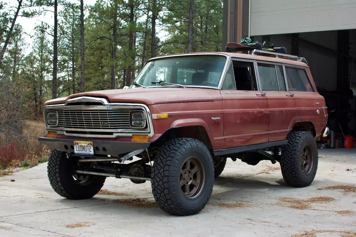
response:
[[[284,181],[294,187],[307,187],[315,177],[318,169],[318,148],[313,136],[307,131],[291,131],[288,136],[288,144],[281,148],[281,170]],[[310,173],[305,174],[301,168],[300,155],[305,145],[311,147],[313,152],[313,165]]]

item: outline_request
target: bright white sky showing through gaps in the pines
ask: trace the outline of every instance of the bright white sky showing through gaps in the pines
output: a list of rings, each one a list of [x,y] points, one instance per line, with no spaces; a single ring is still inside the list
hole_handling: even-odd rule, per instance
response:
[[[7,3],[7,7],[9,6],[17,6],[17,1],[16,0],[2,0],[3,2]],[[69,2],[77,3],[79,4],[79,0],[68,0]],[[84,5],[94,5],[96,0],[84,0]],[[58,12],[62,10],[61,6],[58,6]],[[53,17],[53,12],[46,12],[45,14],[42,14],[41,16],[38,17],[33,17],[33,18],[27,18],[27,17],[17,17],[16,19],[16,24],[20,24],[23,28],[23,31],[26,33],[25,34],[25,39],[27,41],[27,48],[25,50],[25,54],[28,54],[31,52],[31,47],[32,47],[32,38],[31,36],[34,33],[34,29],[36,24],[40,24],[41,21],[47,23],[50,26],[53,26],[54,24],[54,17]],[[165,31],[160,31],[157,29],[157,34],[158,37],[161,39],[166,38],[166,32]]]

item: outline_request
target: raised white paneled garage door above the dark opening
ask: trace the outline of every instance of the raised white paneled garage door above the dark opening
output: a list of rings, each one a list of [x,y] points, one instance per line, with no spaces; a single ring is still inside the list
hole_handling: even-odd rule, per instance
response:
[[[251,36],[356,28],[356,0],[251,0]]]

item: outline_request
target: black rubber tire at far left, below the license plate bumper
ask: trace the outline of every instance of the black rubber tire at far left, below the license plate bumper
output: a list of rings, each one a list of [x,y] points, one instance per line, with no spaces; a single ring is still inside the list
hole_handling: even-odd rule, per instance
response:
[[[91,176],[90,181],[78,184],[73,178],[74,162],[66,152],[53,149],[48,158],[47,174],[49,183],[56,193],[68,199],[88,199],[103,187],[105,176]]]

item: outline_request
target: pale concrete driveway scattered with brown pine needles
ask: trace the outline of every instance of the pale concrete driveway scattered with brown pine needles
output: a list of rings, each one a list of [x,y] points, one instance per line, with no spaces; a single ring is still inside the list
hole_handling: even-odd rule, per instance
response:
[[[323,189],[356,185],[356,153],[337,150],[320,151],[318,173],[307,188],[288,187],[278,163],[229,160],[208,205],[187,217],[122,204],[153,200],[150,183],[128,179],[106,179],[103,188],[121,195],[64,199],[42,164],[0,178],[0,236],[356,236],[356,192]]]

